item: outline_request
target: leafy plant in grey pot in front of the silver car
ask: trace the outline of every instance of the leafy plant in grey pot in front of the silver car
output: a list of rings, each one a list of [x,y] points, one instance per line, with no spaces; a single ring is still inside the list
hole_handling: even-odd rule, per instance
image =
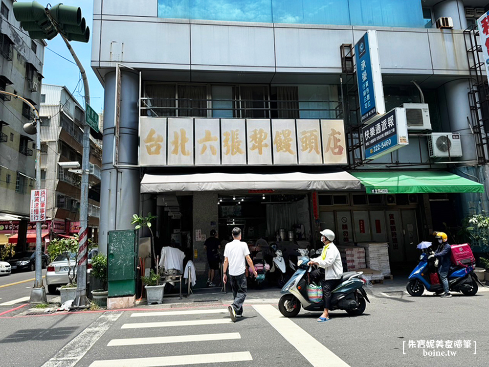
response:
[[[61,303],[76,297],[76,254],[78,253],[78,239],[73,238],[56,238],[51,241],[47,247],[47,254],[53,260],[58,256],[65,256],[68,267],[68,284],[60,288]],[[74,254],[74,256],[73,256]]]

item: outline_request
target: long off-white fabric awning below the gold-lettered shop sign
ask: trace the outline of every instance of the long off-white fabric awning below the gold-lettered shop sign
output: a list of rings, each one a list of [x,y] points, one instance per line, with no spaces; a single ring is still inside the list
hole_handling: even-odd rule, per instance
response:
[[[348,172],[333,173],[196,173],[144,175],[141,193],[231,190],[357,190],[360,181]]]

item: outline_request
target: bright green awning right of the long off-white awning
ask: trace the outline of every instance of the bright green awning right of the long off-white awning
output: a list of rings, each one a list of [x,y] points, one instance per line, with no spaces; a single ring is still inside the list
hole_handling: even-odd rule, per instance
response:
[[[484,192],[484,185],[444,171],[350,172],[367,194]]]

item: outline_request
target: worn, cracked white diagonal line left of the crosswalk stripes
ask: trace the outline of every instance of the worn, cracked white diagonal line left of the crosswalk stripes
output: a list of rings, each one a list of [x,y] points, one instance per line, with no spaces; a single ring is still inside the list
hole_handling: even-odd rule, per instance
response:
[[[42,367],[73,367],[112,324],[122,315],[122,312],[106,312],[93,321],[85,330],[60,349]],[[120,367],[120,366],[119,366]]]

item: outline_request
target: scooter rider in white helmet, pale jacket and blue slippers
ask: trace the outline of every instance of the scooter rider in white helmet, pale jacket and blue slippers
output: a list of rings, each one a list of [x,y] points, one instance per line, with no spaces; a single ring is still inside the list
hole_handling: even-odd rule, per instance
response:
[[[323,251],[319,257],[315,257],[309,261],[308,265],[317,265],[324,269],[324,277],[322,279],[324,311],[317,319],[318,322],[329,321],[329,309],[331,303],[331,292],[339,284],[343,275],[343,264],[338,249],[333,244],[334,232],[331,229],[325,229],[321,232],[321,242],[324,243]],[[319,269],[318,269],[319,270]]]

